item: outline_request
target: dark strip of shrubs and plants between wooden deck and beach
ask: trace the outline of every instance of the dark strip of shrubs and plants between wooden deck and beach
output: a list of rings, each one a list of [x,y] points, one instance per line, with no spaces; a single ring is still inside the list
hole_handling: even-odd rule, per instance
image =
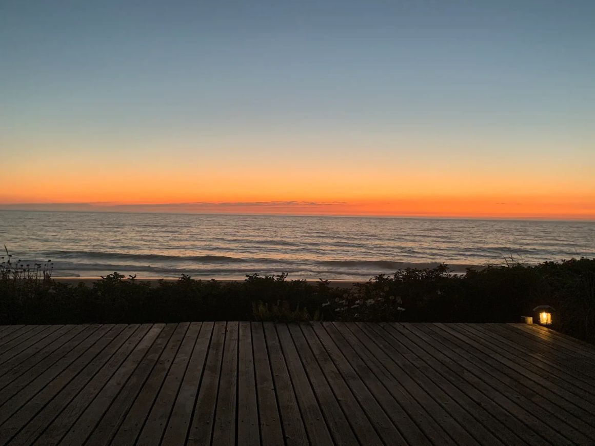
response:
[[[154,285],[114,272],[91,286],[66,284],[51,274],[49,260],[23,265],[5,257],[0,323],[520,322],[547,304],[555,308],[552,328],[595,343],[595,259],[508,262],[459,275],[446,264],[407,268],[346,288],[285,273],[231,282],[182,275]]]

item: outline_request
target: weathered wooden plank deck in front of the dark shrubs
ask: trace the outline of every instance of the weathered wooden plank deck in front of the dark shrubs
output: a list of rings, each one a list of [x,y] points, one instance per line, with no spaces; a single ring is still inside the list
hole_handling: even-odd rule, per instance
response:
[[[0,326],[0,444],[595,444],[595,348],[540,326]]]

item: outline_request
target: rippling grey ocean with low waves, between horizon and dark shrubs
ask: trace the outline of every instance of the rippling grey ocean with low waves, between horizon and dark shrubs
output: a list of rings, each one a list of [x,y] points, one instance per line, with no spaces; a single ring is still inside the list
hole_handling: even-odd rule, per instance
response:
[[[13,260],[54,277],[367,280],[399,268],[595,257],[595,222],[0,211]],[[1,256],[1,255],[0,255]]]

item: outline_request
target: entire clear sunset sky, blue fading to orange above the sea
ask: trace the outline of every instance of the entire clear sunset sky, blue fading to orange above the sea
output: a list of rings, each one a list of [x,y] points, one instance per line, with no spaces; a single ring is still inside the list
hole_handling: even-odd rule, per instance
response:
[[[0,209],[595,219],[592,0],[0,2]]]

